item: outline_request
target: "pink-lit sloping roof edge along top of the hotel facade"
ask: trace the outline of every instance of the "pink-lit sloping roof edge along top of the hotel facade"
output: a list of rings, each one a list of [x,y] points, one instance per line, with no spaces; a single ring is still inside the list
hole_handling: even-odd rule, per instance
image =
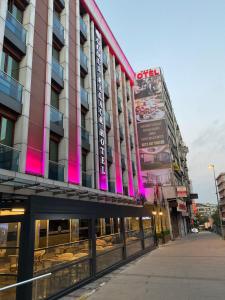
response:
[[[105,18],[103,17],[99,7],[97,6],[94,0],[81,0],[82,4],[85,6],[99,31],[103,35],[104,39],[107,41],[107,44],[111,48],[111,51],[119,60],[122,69],[126,72],[127,76],[130,78],[131,83],[133,84],[135,79],[135,72],[129,64],[125,54],[120,48],[115,36],[113,35],[109,25],[107,24]]]

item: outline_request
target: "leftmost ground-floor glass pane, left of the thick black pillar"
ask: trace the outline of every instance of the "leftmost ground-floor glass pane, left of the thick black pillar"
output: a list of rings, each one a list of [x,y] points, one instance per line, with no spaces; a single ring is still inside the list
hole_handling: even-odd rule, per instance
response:
[[[17,281],[21,223],[0,223],[0,287]],[[16,299],[16,290],[0,292],[0,299]]]

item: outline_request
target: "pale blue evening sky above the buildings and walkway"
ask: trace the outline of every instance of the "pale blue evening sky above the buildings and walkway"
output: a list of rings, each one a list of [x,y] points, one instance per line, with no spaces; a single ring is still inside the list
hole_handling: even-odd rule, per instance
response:
[[[160,66],[185,143],[193,191],[216,202],[225,172],[225,0],[96,0],[134,71]]]

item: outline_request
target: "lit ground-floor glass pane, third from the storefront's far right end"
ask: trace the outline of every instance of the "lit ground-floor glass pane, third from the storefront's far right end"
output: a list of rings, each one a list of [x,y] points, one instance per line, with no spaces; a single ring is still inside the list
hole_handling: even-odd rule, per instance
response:
[[[124,244],[119,218],[96,220],[96,271],[120,262],[123,259]]]

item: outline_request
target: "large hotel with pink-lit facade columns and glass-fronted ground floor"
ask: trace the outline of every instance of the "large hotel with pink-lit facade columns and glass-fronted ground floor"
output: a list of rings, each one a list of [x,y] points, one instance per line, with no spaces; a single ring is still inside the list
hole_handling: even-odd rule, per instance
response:
[[[0,286],[57,299],[154,247],[134,71],[93,0],[0,1]]]

